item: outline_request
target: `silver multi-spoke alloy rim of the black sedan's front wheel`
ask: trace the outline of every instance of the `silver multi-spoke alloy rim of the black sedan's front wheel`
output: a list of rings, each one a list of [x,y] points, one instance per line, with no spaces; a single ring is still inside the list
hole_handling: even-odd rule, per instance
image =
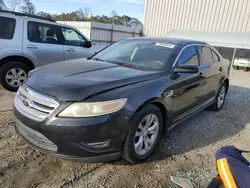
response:
[[[138,155],[147,154],[154,146],[159,134],[159,119],[154,114],[147,115],[139,124],[134,138],[134,149]]]

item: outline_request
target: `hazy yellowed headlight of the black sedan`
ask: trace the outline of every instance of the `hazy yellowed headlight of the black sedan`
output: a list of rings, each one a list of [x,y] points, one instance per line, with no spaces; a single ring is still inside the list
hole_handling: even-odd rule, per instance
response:
[[[90,102],[71,104],[63,110],[59,117],[95,117],[114,113],[123,108],[127,99],[118,99],[104,102]]]

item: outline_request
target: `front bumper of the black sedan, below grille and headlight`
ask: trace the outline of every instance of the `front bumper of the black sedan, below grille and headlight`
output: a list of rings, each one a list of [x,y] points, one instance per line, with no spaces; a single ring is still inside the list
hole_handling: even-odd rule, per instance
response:
[[[15,129],[39,151],[78,162],[103,162],[120,156],[128,131],[123,111],[94,118],[58,118],[54,113],[42,122],[22,115],[14,107]]]

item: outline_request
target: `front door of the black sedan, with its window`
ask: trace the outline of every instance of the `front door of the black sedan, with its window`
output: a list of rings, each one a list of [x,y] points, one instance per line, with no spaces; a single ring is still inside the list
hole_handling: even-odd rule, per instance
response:
[[[176,65],[199,66],[196,46],[189,46],[180,54]],[[179,73],[173,80],[173,121],[179,121],[198,109],[204,102],[204,78],[200,73]]]

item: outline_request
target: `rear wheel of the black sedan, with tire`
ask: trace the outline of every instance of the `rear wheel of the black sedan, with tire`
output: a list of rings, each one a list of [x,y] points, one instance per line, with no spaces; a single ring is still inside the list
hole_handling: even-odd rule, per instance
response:
[[[225,103],[227,96],[227,84],[224,82],[216,96],[216,101],[212,104],[211,110],[220,111]]]

